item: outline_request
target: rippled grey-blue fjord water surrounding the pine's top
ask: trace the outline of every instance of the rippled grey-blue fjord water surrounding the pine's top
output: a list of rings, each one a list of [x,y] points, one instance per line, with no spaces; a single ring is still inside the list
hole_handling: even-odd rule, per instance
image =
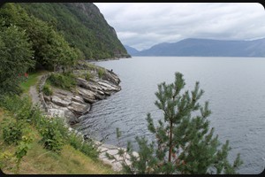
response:
[[[257,174],[265,166],[265,58],[133,57],[96,62],[113,69],[121,79],[122,90],[95,103],[81,117],[78,129],[105,143],[117,144],[134,137],[153,137],[147,128],[147,113],[156,122],[163,112],[155,106],[157,84],[174,81],[174,73],[184,74],[186,89],[195,81],[205,91],[201,102],[209,101],[208,118],[220,142],[230,141],[230,160],[241,154],[239,173]]]

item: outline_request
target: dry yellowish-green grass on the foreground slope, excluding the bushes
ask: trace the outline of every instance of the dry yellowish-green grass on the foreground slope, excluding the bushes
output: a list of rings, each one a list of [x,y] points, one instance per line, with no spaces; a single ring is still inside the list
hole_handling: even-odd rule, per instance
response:
[[[4,119],[4,112],[0,108],[1,123]],[[19,174],[115,174],[110,165],[103,165],[101,161],[87,157],[70,144],[65,144],[60,154],[43,149],[39,143],[41,135],[35,127],[30,127],[30,129],[34,133],[34,142],[27,155],[22,158]],[[4,143],[2,131],[0,131],[0,150],[0,153],[11,154],[14,154],[16,150],[15,145]],[[5,165],[2,169],[4,173],[14,173],[14,159],[7,160]]]

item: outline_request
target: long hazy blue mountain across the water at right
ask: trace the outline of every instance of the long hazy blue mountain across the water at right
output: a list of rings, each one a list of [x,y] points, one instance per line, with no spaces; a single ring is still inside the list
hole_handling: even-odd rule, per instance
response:
[[[133,56],[265,57],[265,38],[254,41],[185,39],[163,42]]]

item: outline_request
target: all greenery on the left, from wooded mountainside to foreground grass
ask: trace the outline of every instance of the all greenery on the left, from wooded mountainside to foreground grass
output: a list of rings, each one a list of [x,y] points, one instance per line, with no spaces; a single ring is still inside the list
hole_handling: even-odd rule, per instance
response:
[[[86,11],[80,11],[79,4],[1,6],[0,168],[4,173],[113,173],[97,160],[93,142],[69,135],[60,119],[44,117],[27,96],[42,73],[55,72],[42,89],[50,96],[51,86],[75,88],[72,70],[80,60],[127,56],[95,5],[83,5]],[[87,81],[92,77],[84,74]]]

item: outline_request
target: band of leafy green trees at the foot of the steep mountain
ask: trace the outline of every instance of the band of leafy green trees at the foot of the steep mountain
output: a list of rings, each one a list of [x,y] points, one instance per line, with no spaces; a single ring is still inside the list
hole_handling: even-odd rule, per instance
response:
[[[27,41],[30,41],[34,56],[27,58],[34,58],[35,67],[42,65],[54,71],[67,70],[77,61],[78,49],[70,47],[64,36],[49,23],[29,16],[19,4],[4,4],[0,16],[3,18],[4,27],[16,26],[28,36]],[[24,68],[28,69],[27,65]]]

